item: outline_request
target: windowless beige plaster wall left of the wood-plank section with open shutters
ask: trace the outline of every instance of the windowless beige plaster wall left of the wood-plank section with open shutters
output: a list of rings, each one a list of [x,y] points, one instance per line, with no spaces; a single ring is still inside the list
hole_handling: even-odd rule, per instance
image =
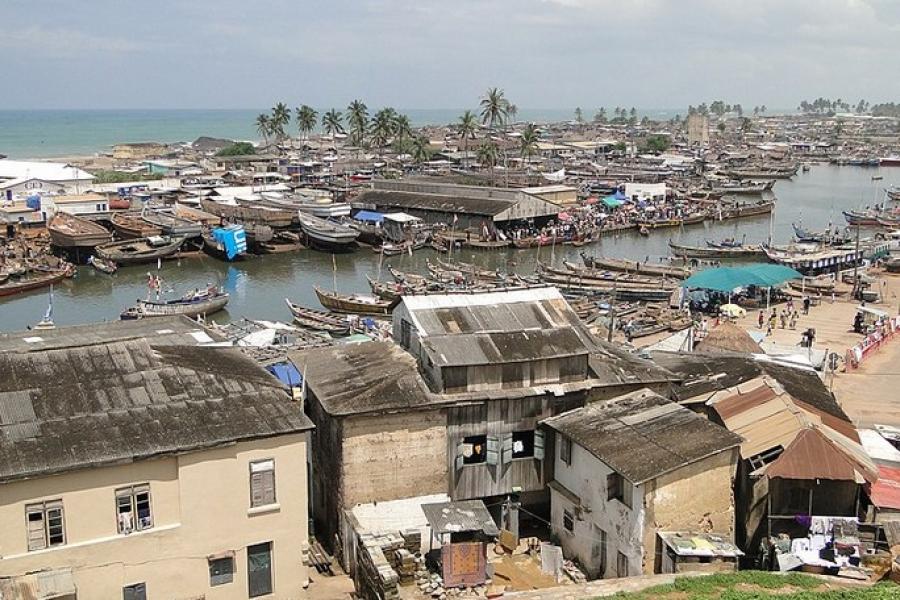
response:
[[[447,493],[447,417],[441,411],[344,421],[344,508]]]

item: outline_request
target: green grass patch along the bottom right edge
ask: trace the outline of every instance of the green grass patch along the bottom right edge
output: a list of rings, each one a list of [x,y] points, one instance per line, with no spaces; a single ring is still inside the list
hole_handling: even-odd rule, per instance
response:
[[[886,600],[900,598],[900,586],[881,583],[870,588],[828,589],[829,584],[803,573],[778,575],[764,571],[678,577],[675,583],[641,592],[620,592],[620,600]]]

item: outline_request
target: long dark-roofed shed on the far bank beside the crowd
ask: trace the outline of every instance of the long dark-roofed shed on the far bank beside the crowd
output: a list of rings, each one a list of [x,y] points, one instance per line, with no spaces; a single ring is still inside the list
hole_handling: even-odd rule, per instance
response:
[[[559,214],[555,202],[522,189],[428,181],[376,180],[354,200],[353,208],[405,212],[426,223],[455,223],[457,230],[532,220],[545,223]]]

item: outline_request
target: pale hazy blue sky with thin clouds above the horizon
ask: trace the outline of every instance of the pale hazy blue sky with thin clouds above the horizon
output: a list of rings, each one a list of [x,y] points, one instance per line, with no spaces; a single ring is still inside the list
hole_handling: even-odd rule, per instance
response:
[[[0,109],[900,100],[898,0],[2,0]]]

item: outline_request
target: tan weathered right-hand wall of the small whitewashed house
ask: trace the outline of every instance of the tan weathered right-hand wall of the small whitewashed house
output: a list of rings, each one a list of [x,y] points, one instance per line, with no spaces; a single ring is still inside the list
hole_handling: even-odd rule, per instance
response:
[[[714,532],[734,541],[737,460],[737,448],[726,450],[645,484],[645,574],[654,570],[657,531]]]

